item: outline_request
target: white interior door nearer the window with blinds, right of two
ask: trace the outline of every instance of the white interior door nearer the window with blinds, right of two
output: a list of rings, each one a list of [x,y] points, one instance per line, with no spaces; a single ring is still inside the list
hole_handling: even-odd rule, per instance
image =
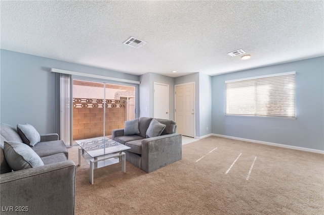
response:
[[[194,83],[177,85],[175,93],[177,133],[188,137],[194,137]]]

